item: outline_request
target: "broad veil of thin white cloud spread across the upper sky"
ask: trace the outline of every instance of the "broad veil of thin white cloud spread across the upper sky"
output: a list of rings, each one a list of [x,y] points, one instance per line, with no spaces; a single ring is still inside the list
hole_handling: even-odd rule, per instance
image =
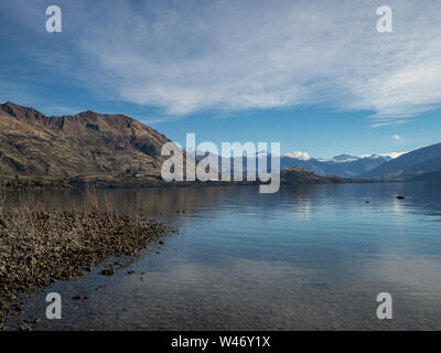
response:
[[[376,31],[376,1],[76,3],[60,1],[75,21],[56,60],[30,52],[164,116],[321,104],[370,110],[380,127],[441,103],[438,0],[389,0],[394,33]]]

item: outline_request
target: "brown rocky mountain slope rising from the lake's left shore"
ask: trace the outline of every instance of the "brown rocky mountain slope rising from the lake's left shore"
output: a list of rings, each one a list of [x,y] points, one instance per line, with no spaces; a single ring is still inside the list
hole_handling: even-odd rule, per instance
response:
[[[13,103],[0,105],[2,175],[159,175],[168,141],[123,115],[88,110],[47,117]]]

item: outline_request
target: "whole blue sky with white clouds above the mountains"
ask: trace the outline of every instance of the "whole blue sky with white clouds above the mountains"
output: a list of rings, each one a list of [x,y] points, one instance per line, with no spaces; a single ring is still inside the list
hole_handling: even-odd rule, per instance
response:
[[[441,142],[441,3],[0,3],[0,100],[46,115],[121,113],[182,145],[280,141],[331,158]],[[62,9],[63,32],[45,31]]]

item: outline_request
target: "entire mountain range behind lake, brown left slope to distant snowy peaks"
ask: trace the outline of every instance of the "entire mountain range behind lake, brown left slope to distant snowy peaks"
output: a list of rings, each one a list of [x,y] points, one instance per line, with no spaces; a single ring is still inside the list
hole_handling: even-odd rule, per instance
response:
[[[161,148],[169,141],[164,135],[125,115],[87,110],[74,116],[49,117],[33,108],[10,101],[0,105],[1,175],[160,176],[161,165],[168,159],[161,156]],[[257,157],[261,158],[259,153]],[[247,157],[238,158],[243,159],[246,170]],[[268,154],[267,158],[270,172],[271,156]],[[233,159],[220,159],[234,163]],[[340,154],[332,159],[320,159],[294,152],[281,156],[280,167],[281,170],[291,170],[290,174],[308,172],[304,176],[309,180],[314,180],[314,175],[408,179],[441,170],[441,143],[396,159],[384,154]],[[433,175],[430,178],[433,179]],[[300,176],[295,176],[295,180],[302,180]]]

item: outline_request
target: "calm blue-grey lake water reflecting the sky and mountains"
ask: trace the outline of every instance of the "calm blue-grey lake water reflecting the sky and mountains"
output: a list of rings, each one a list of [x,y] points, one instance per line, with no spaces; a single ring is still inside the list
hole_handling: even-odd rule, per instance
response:
[[[119,259],[127,267],[112,277],[97,267],[33,295],[9,328],[41,318],[33,330],[441,329],[441,184],[104,193],[119,212],[170,221],[180,234]],[[84,199],[33,192],[9,202],[69,208]],[[62,320],[45,319],[51,291],[62,295]],[[392,320],[376,317],[379,292],[392,296]]]

